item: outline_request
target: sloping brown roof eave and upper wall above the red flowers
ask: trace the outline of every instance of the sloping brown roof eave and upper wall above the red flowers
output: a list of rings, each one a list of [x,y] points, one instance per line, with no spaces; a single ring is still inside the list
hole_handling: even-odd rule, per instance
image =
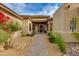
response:
[[[1,3],[0,3],[0,14],[4,15],[4,20],[6,20],[5,17],[7,17],[8,19],[10,18],[13,21],[18,21],[20,26],[22,26],[22,18],[17,13],[15,13],[14,11],[12,11],[11,9],[9,9],[8,7],[6,7]]]

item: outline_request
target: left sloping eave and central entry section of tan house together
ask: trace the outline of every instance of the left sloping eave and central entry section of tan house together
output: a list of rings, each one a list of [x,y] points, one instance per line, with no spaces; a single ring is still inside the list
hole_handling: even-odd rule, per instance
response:
[[[0,3],[0,12],[12,20],[18,21],[22,26],[24,35],[33,33],[48,33],[52,31],[52,18],[46,15],[19,15]]]

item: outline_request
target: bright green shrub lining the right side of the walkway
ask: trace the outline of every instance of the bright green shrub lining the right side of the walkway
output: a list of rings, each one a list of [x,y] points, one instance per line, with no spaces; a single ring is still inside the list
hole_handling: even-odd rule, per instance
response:
[[[59,46],[60,50],[65,53],[65,43],[62,36],[59,33],[53,32],[49,37],[51,41],[53,40],[53,42]]]

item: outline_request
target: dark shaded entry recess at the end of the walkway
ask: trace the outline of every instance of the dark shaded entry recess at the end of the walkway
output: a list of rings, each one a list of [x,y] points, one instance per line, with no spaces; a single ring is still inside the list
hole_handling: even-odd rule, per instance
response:
[[[33,23],[34,33],[47,33],[47,24],[45,22]]]

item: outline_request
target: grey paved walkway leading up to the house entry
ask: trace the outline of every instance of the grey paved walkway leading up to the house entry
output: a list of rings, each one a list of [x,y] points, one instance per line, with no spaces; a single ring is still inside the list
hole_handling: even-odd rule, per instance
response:
[[[45,34],[44,34],[45,35]],[[44,42],[44,35],[36,34],[34,44],[31,47],[31,56],[46,56],[48,54],[47,46]]]

